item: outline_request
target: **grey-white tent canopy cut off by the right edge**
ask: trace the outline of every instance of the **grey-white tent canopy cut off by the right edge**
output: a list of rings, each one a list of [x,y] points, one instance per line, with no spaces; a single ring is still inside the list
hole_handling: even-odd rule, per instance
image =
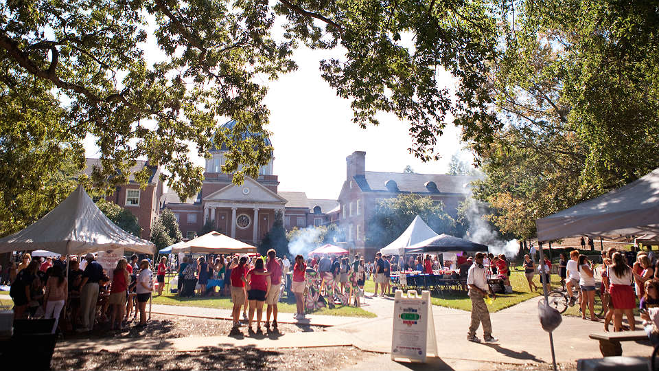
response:
[[[538,219],[537,240],[659,233],[659,168],[632,183]]]

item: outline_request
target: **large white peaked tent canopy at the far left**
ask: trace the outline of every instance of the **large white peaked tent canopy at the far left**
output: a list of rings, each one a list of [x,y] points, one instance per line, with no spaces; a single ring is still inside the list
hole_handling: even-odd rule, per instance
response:
[[[25,229],[0,238],[0,253],[44,249],[63,255],[119,249],[153,254],[155,245],[108,219],[82,186]]]

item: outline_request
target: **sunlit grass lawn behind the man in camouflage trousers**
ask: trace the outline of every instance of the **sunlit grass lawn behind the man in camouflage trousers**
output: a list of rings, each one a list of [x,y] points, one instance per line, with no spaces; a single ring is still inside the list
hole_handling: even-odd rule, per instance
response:
[[[490,312],[496,312],[503,308],[508,308],[509,306],[513,306],[515,304],[519,304],[520,302],[529,300],[532,297],[540,296],[542,294],[540,276],[536,275],[533,281],[538,286],[540,291],[529,292],[529,284],[527,282],[527,278],[524,277],[524,271],[521,269],[519,271],[514,268],[511,269],[510,284],[513,286],[513,292],[509,294],[496,294],[496,300],[494,300],[492,305],[488,305],[487,308]],[[560,278],[557,275],[552,275],[551,284],[552,289],[556,289],[558,286],[560,286]],[[375,289],[375,283],[373,283],[373,280],[367,281],[364,289],[367,293],[373,293],[373,289]],[[441,294],[433,293],[431,300],[433,305],[446,306],[448,308],[456,308],[463,311],[472,310],[472,301],[467,296],[466,292]]]

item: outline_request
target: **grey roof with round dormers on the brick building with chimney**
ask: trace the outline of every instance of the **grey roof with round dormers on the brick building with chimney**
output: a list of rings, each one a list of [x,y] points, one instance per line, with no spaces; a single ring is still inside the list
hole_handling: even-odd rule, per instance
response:
[[[367,171],[366,176],[356,175],[354,177],[359,188],[363,192],[391,192],[391,193],[468,193],[469,183],[476,177],[465,175],[438,175],[438,174],[411,174],[408,172],[378,172]],[[395,188],[388,189],[385,184],[393,180]],[[428,182],[434,182],[437,190],[426,187]]]

